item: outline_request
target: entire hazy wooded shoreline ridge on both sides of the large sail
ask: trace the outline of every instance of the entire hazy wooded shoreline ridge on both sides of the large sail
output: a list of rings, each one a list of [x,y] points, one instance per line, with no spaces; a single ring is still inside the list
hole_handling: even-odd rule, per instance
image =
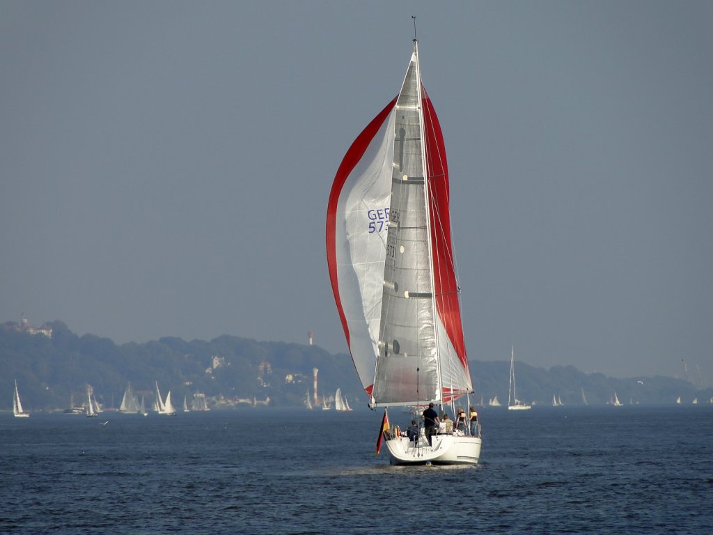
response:
[[[167,337],[116,345],[108,338],[80,337],[61,321],[50,322],[43,330],[44,334],[30,331],[14,322],[0,325],[0,409],[11,409],[14,379],[30,410],[66,408],[71,398],[81,404],[87,384],[105,407],[118,407],[128,382],[153,399],[156,381],[164,395],[171,391],[177,405],[194,392],[225,404],[269,397],[272,406],[300,405],[308,389],[313,394],[315,367],[320,396],[334,395],[339,387],[353,408],[365,407],[367,401],[349,355],[331,355],[317,346],[227,335],[210,342]],[[470,364],[474,400],[482,397],[487,403],[497,395],[505,404],[509,363]],[[518,397],[538,404],[551,404],[553,395],[564,404],[582,404],[582,391],[589,404],[607,403],[614,392],[625,404],[673,403],[679,396],[684,403],[694,397],[707,402],[713,396],[713,389],[697,391],[681,379],[612,379],[570,366],[543,370],[518,363],[517,377]]]

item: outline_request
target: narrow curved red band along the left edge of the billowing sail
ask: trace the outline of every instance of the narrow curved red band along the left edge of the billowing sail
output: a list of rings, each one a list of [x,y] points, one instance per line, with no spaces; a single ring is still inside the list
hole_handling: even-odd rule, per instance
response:
[[[337,303],[339,319],[342,320],[342,329],[344,329],[344,336],[347,338],[347,346],[349,346],[350,353],[352,352],[352,348],[349,345],[349,325],[347,325],[347,317],[344,315],[344,310],[342,309],[342,300],[339,297],[339,282],[337,278],[337,244],[335,243],[335,235],[337,232],[337,205],[339,204],[339,197],[342,195],[344,183],[352,173],[352,170],[354,170],[359,161],[361,161],[366,149],[369,148],[369,144],[389,116],[391,109],[396,105],[396,98],[386,104],[384,109],[371,120],[371,123],[361,131],[359,136],[356,136],[352,146],[349,147],[349,150],[344,155],[342,163],[339,164],[337,175],[334,176],[334,182],[332,183],[332,191],[329,193],[329,203],[327,205],[327,266],[329,267],[329,279],[332,281],[334,301]],[[373,385],[367,387],[367,394],[371,395],[370,390],[372,387]]]

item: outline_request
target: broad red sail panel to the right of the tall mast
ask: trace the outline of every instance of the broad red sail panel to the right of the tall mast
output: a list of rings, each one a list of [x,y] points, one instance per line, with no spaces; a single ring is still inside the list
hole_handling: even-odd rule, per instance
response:
[[[446,328],[448,338],[458,354],[458,360],[461,361],[463,368],[468,370],[461,307],[458,304],[458,282],[453,265],[446,146],[443,143],[441,124],[438,123],[436,111],[423,84],[421,84],[421,93],[424,108],[424,132],[426,134],[426,171],[429,177],[429,216],[431,218],[431,236],[433,237],[436,309],[441,322],[443,322],[443,327]]]

